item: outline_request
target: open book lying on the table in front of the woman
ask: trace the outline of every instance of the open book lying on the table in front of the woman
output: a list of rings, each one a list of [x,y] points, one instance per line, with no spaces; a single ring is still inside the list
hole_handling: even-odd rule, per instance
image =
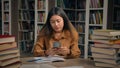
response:
[[[48,57],[34,57],[28,62],[44,63],[44,62],[63,62],[65,59],[60,56],[48,56]]]

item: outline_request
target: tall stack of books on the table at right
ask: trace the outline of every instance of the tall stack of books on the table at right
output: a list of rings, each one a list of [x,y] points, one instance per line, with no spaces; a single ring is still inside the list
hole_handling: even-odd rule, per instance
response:
[[[91,35],[92,57],[96,66],[114,67],[120,61],[120,31],[94,30]]]

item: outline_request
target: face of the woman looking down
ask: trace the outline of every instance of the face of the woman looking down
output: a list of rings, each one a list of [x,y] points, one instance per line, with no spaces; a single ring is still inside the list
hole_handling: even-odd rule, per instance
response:
[[[55,32],[61,32],[63,30],[64,20],[59,15],[53,15],[50,18],[50,25]]]

